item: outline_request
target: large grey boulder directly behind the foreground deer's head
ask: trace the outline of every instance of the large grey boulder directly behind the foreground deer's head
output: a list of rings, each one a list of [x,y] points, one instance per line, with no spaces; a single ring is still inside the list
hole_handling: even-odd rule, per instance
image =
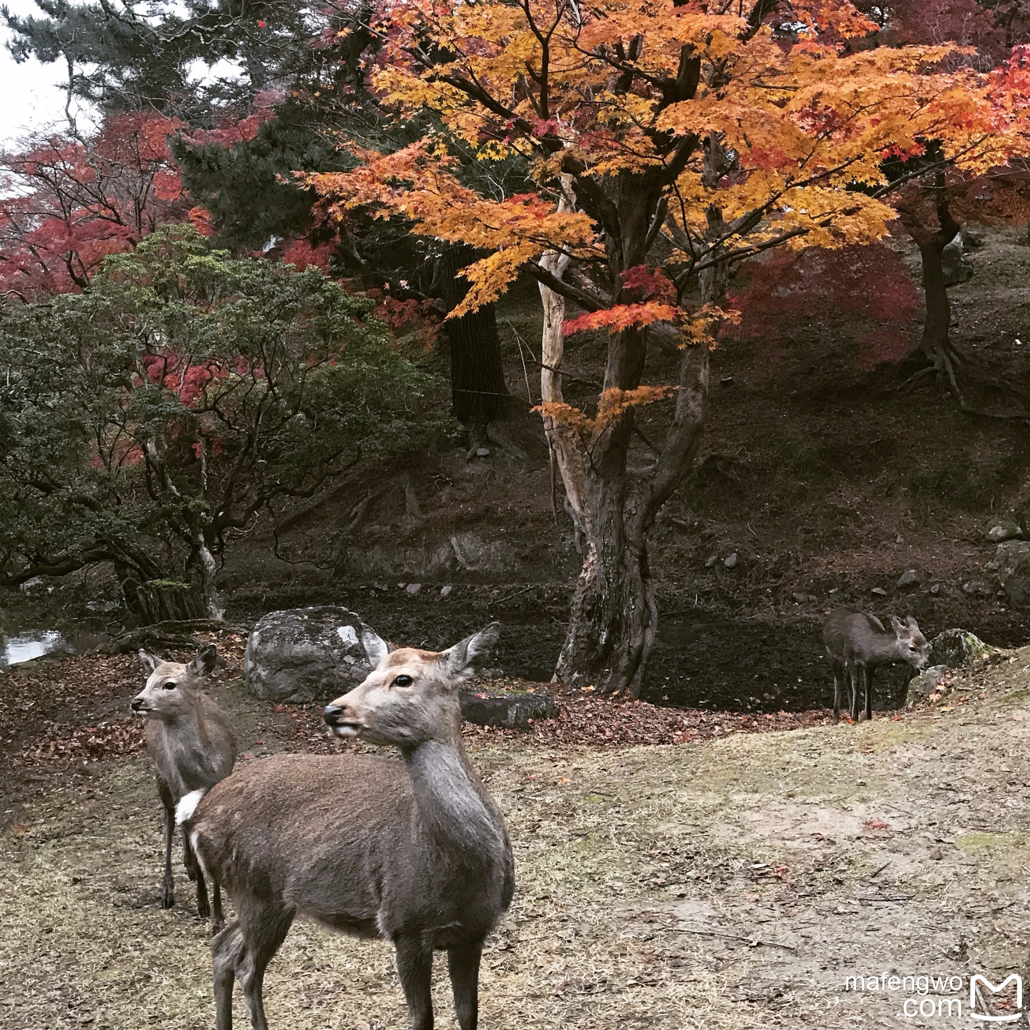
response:
[[[243,683],[270,701],[331,701],[372,668],[362,644],[369,628],[346,608],[291,608],[262,616],[247,638]]]

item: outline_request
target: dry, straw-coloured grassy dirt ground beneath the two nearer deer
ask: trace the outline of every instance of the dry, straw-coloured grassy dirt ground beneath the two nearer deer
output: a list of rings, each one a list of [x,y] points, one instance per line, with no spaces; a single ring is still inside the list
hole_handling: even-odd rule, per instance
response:
[[[145,757],[115,732],[101,760],[81,733],[63,758],[33,744],[55,722],[58,739],[122,724],[139,682],[131,659],[92,679],[87,661],[50,666],[67,672],[65,706],[55,694],[40,718],[26,700],[3,727],[8,758],[20,750],[0,799],[0,1025],[206,1028],[206,929],[180,867],[176,906],[159,907]],[[40,674],[8,675],[8,715],[23,675]],[[212,692],[235,713],[242,761],[337,747],[296,712],[253,701],[231,670]],[[473,741],[518,879],[484,956],[481,1026],[968,1026],[967,1008],[903,1015],[939,992],[846,990],[846,978],[957,976],[943,997],[967,1006],[973,972],[998,983],[1026,967],[1028,737],[1030,649],[996,654],[935,708],[858,726],[607,750]],[[306,924],[266,998],[275,1030],[406,1026],[389,947]],[[439,1025],[453,1026],[442,962],[436,998]]]

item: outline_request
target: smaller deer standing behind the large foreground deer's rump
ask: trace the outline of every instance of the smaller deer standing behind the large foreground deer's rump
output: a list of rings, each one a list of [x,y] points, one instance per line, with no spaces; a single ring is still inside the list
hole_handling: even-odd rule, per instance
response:
[[[202,680],[214,668],[218,652],[213,645],[201,648],[188,664],[162,661],[139,652],[150,671],[146,686],[131,708],[146,719],[146,750],[158,775],[158,793],[165,810],[165,879],[161,906],[175,903],[172,877],[172,838],[175,834],[175,805],[194,790],[207,790],[229,776],[236,761],[236,735],[229,716],[201,689]],[[182,834],[182,861],[186,874],[197,881],[197,912],[202,919],[211,915],[204,873],[197,864],[187,834]],[[221,891],[214,887],[212,929],[220,930]]]

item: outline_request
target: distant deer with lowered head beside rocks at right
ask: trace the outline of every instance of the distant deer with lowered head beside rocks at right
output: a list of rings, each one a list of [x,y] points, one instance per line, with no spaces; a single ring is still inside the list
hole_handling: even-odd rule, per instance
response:
[[[851,718],[858,721],[858,688],[865,690],[865,718],[872,718],[872,678],[881,665],[907,662],[926,668],[930,646],[909,615],[902,622],[889,616],[891,628],[874,615],[853,608],[838,608],[823,623],[823,644],[833,670],[833,721],[840,718],[840,692],[847,671],[851,680]]]

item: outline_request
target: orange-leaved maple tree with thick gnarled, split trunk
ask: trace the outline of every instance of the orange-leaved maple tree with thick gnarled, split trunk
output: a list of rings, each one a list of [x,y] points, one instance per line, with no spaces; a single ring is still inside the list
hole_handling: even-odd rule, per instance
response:
[[[433,117],[308,181],[331,215],[362,206],[482,252],[455,313],[522,271],[539,281],[540,410],[587,545],[556,677],[637,695],[657,625],[648,536],[700,446],[726,269],[881,238],[900,184],[886,154],[932,140],[982,171],[1022,147],[1022,109],[948,61],[954,45],[849,46],[876,26],[845,0],[381,0],[370,28],[384,104]],[[458,152],[521,159],[535,188],[493,195]],[[593,413],[561,390],[564,331],[581,330],[608,331]],[[678,381],[654,381],[656,349]]]

